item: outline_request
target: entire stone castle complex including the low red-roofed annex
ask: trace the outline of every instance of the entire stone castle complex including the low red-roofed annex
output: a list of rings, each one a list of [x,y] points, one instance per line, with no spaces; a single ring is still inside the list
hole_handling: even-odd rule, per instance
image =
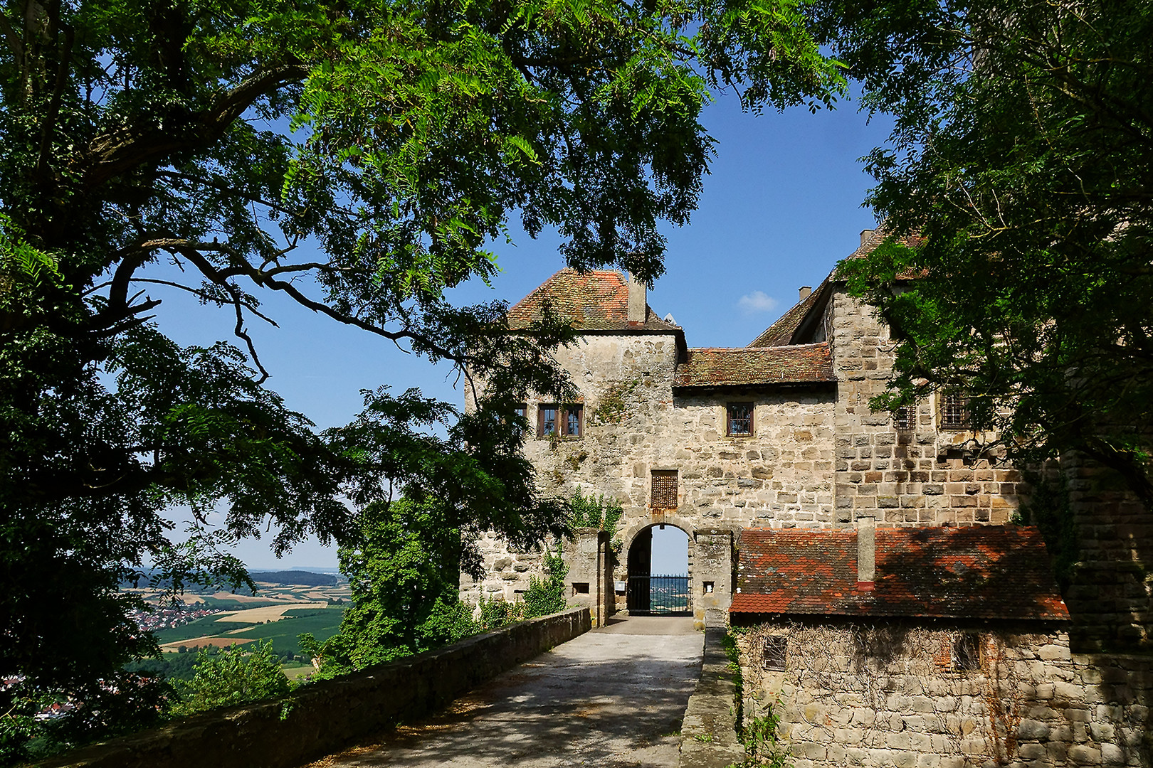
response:
[[[689,348],[616,272],[558,272],[511,327],[545,301],[581,330],[557,353],[580,396],[523,404],[526,454],[545,492],[624,510],[566,542],[570,602],[601,623],[653,608],[651,532],[676,526],[687,609],[738,633],[745,725],[771,707],[797,768],[1153,767],[1153,524],[1108,472],[1050,471],[1076,548],[1062,588],[1016,525],[1030,487],[962,396],[869,409],[894,344],[835,272],[740,348]],[[482,549],[466,599],[514,600],[538,572],[540,553]]]

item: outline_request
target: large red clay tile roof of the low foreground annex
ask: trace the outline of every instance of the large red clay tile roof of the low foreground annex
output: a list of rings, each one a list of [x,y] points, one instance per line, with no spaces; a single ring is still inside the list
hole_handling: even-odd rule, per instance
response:
[[[1035,529],[879,530],[875,578],[857,590],[856,530],[745,530],[729,610],[1069,621]]]

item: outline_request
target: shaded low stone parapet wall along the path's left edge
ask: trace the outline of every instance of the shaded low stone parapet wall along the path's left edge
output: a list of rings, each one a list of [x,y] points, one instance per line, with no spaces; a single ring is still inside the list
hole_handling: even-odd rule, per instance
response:
[[[291,768],[412,721],[591,629],[588,608],[520,622],[284,699],[173,721],[84,747],[40,768]]]

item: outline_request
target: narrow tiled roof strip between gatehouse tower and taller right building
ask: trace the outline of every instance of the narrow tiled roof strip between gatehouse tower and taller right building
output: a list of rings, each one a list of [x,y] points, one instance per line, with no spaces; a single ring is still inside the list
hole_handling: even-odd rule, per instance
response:
[[[673,387],[747,387],[836,381],[829,344],[707,347],[677,364]]]

